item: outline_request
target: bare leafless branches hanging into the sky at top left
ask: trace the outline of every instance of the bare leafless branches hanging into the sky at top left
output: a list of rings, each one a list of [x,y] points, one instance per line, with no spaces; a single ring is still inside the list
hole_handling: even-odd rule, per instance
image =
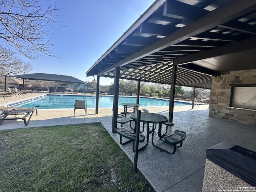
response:
[[[45,3],[45,1],[44,1]],[[47,27],[62,24],[56,20],[56,4],[43,7],[39,0],[0,0],[0,38],[28,58],[54,56]]]

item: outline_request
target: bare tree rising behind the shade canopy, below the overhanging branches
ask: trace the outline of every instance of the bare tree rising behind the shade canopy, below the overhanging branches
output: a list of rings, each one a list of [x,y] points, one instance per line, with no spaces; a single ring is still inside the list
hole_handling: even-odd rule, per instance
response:
[[[14,56],[6,48],[0,45],[0,76],[8,76],[11,74],[25,74],[32,70],[32,66],[28,62],[23,62],[20,58]]]

